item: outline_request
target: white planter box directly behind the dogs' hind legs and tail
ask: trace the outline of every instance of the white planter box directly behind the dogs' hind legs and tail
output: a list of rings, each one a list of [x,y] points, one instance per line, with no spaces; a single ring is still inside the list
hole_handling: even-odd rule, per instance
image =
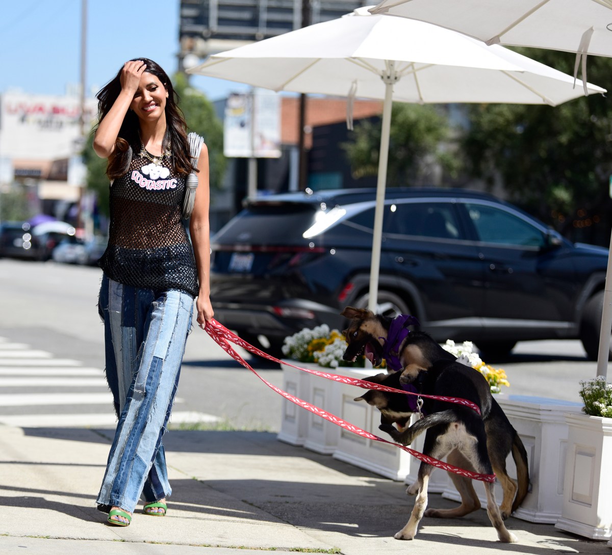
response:
[[[529,522],[554,524],[561,516],[563,483],[565,474],[565,448],[567,424],[565,413],[580,413],[581,404],[545,397],[527,395],[495,395],[495,399],[523,440],[529,461],[531,491],[513,513],[516,518]],[[517,479],[517,469],[509,455],[506,460],[508,475]],[[476,493],[483,509],[487,508],[487,496],[482,485]],[[459,493],[449,480],[449,487],[442,494],[447,499],[460,500]],[[501,503],[503,492],[499,482],[495,484],[495,500]]]

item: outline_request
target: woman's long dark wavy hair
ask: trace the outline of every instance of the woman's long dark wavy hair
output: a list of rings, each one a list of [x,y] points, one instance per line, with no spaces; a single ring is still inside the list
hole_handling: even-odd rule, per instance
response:
[[[168,91],[165,108],[166,134],[163,138],[163,145],[167,145],[169,141],[171,143],[174,171],[182,175],[190,174],[192,171],[198,171],[192,166],[188,155],[187,123],[185,123],[183,112],[178,106],[179,95],[174,90],[170,78],[159,64],[155,64],[154,61],[148,58],[134,58],[130,61],[135,62],[137,60],[146,64],[147,67],[144,72],[155,75]],[[119,93],[121,92],[122,70],[123,68],[121,68],[114,79],[109,81],[96,95],[98,99],[98,123],[108,114],[114,101],[119,97]],[[138,120],[138,116],[136,116],[132,110],[128,110],[123,119],[123,123],[121,123],[121,129],[119,130],[117,140],[115,141],[115,149],[108,157],[106,175],[108,175],[109,179],[116,179],[124,175],[129,169],[133,153],[140,152],[139,131],[140,121]],[[165,146],[163,148],[165,148]]]

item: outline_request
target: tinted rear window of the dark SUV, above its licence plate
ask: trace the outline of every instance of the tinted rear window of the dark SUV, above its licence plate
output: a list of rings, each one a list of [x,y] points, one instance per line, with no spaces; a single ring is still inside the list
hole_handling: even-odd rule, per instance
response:
[[[242,210],[214,237],[217,244],[304,244],[302,234],[315,222],[309,204],[259,205]]]

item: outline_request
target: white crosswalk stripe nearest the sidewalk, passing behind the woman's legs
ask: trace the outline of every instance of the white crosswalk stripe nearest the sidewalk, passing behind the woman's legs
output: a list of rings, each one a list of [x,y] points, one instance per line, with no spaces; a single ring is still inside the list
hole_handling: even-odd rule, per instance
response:
[[[210,424],[219,420],[212,414],[177,411],[172,413],[170,424]],[[0,416],[0,424],[22,428],[114,427],[117,424],[117,417],[113,412],[104,414],[11,414]]]

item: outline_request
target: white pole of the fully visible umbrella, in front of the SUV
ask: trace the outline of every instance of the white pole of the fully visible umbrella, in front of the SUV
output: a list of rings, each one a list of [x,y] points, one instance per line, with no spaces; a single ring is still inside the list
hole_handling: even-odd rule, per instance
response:
[[[383,127],[381,129],[381,147],[378,156],[378,180],[376,182],[376,208],[374,211],[374,233],[372,237],[372,259],[370,266],[370,295],[368,310],[376,313],[378,308],[378,274],[381,265],[381,242],[383,238],[384,192],[387,186],[387,161],[389,160],[389,134],[391,131],[391,108],[395,62],[388,63],[388,73],[382,76],[385,84],[383,104]]]

